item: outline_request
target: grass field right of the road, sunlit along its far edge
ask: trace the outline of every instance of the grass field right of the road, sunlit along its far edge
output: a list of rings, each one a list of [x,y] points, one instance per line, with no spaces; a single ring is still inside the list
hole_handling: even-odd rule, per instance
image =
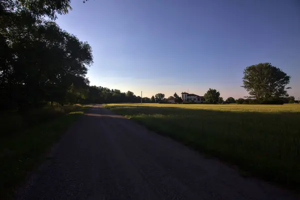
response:
[[[105,107],[243,174],[299,188],[300,105],[108,104]]]

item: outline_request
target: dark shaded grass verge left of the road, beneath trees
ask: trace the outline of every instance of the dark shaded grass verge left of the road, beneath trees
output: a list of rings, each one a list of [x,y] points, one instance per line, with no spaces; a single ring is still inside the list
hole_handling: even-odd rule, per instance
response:
[[[0,199],[10,199],[45,153],[88,106],[45,107],[0,115]]]

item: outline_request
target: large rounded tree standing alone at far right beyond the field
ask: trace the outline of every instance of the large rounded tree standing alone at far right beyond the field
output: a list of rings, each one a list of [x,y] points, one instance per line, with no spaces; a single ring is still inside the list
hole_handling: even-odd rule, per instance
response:
[[[290,76],[270,63],[259,63],[246,67],[242,78],[243,88],[250,98],[271,100],[286,97]]]

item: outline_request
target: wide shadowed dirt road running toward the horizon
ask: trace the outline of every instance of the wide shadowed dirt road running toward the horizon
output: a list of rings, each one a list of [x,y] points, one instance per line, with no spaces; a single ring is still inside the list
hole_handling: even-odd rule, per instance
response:
[[[16,199],[298,199],[93,106]]]

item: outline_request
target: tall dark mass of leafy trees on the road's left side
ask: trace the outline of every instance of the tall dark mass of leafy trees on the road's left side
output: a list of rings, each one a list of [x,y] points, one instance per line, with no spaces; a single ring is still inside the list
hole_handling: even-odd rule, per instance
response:
[[[0,0],[0,108],[25,111],[84,97],[92,64],[89,44],[61,30],[56,14],[69,0]],[[76,95],[75,95],[76,94]]]

